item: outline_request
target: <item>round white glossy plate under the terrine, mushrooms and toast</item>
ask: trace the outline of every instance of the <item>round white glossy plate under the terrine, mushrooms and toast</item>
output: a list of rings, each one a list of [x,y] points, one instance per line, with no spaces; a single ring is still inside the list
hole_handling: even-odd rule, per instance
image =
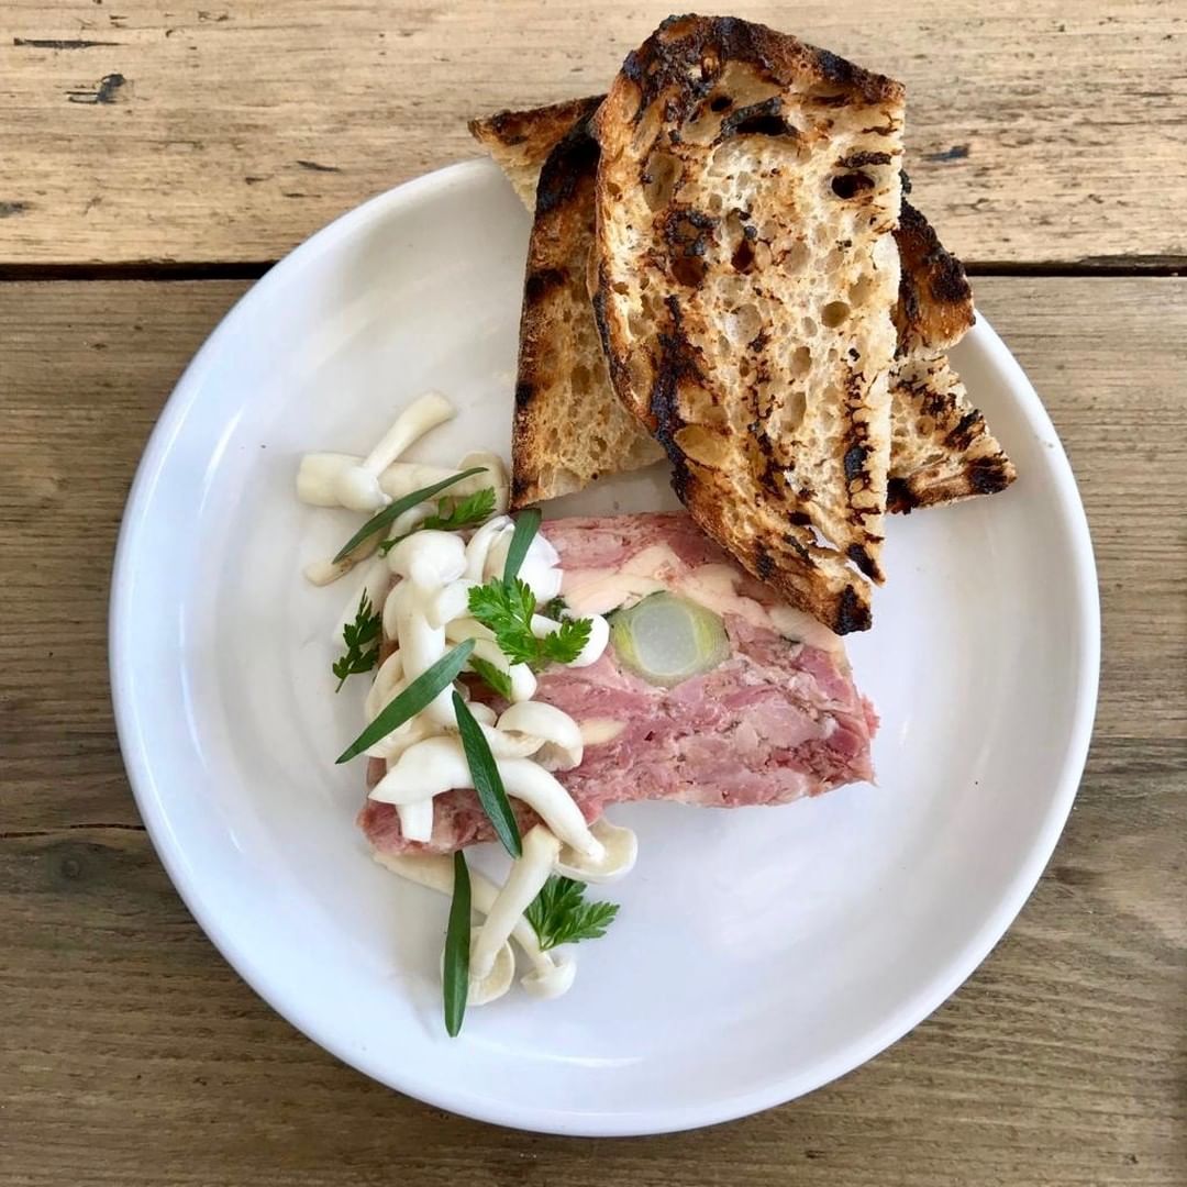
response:
[[[705,1125],[857,1067],[985,957],[1050,855],[1097,688],[1096,575],[1064,451],[982,319],[956,362],[1022,477],[890,522],[876,626],[880,786],[785,808],[621,808],[621,918],[577,985],[440,1024],[446,903],[354,824],[361,687],[332,696],[345,591],[304,561],[357,522],[293,496],[298,456],[364,452],[426,388],[462,408],[415,456],[506,451],[528,220],[494,166],[367,203],[273,268],[203,347],[137,477],[112,679],[144,819],[228,960],[341,1059],[472,1117],[565,1134]],[[579,509],[669,502],[643,476]],[[363,681],[354,681],[356,685]]]

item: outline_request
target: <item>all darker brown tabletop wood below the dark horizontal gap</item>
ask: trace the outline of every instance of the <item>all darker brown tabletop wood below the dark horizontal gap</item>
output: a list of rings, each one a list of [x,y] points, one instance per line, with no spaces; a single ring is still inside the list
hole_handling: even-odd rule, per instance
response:
[[[480,1125],[337,1064],[227,967],[140,830],[106,599],[172,383],[241,284],[0,285],[0,1182],[6,1187],[1187,1180],[1187,280],[992,279],[1092,521],[1096,743],[998,950],[870,1065],[717,1129]]]

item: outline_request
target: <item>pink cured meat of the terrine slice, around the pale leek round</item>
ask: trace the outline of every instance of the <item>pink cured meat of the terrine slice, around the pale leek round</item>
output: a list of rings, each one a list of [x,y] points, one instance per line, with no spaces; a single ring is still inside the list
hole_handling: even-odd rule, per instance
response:
[[[839,641],[829,636],[826,646],[813,646],[780,634],[766,617],[781,605],[776,596],[737,570],[686,515],[564,519],[545,523],[544,533],[560,553],[566,589],[591,570],[617,572],[633,559],[637,570],[654,556],[659,564],[649,576],[665,586],[729,566],[735,592],[754,603],[737,603],[745,612],[723,616],[730,658],[674,688],[627,671],[612,648],[590,667],[541,673],[537,699],[577,722],[622,723],[615,738],[585,748],[579,767],[557,774],[586,820],[626,800],[776,805],[872,777],[877,718],[853,686]],[[373,760],[369,782],[382,773],[382,761]],[[516,811],[521,826],[535,821],[531,811]],[[368,800],[358,823],[376,849],[393,853],[451,852],[494,836],[470,791],[437,798],[429,844],[405,840],[388,804]]]

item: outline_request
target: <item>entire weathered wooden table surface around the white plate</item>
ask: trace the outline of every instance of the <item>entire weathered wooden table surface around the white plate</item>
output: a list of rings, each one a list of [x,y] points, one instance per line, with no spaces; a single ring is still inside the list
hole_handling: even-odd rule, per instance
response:
[[[343,1067],[228,969],[139,823],[106,610],[180,369],[271,261],[603,87],[655,4],[8,0],[0,12],[0,1182],[1187,1183],[1187,6],[747,5],[908,84],[920,204],[1047,404],[1105,665],[1034,897],[934,1017],[709,1131],[566,1141]]]

